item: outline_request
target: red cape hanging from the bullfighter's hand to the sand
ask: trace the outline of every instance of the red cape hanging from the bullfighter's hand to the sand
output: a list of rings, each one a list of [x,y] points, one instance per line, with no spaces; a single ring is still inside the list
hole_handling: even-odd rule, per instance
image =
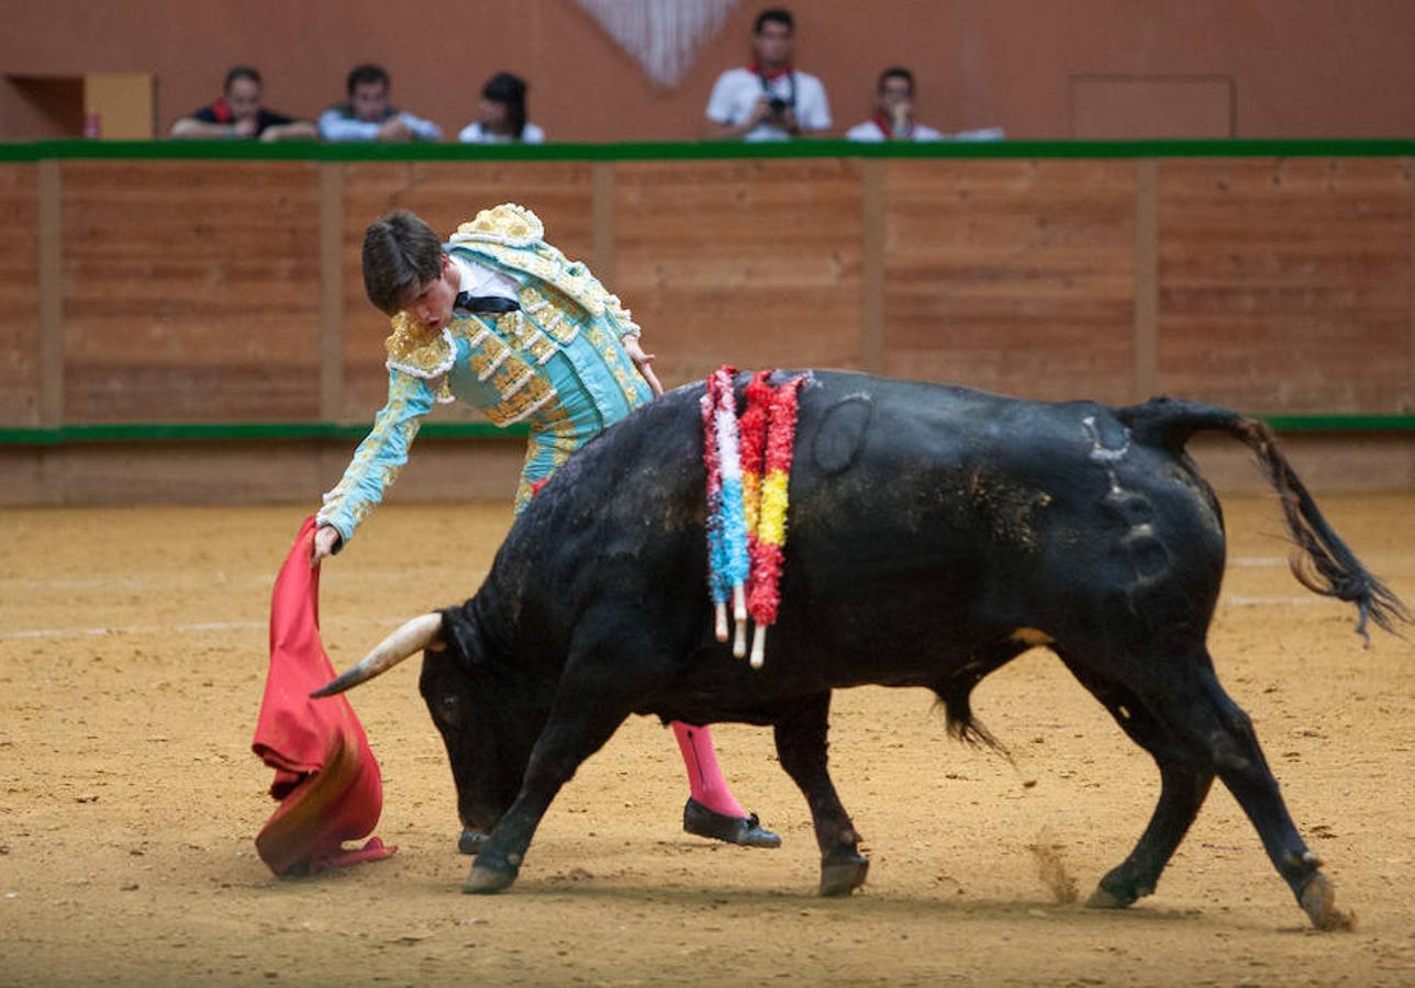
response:
[[[256,835],[256,851],[276,875],[313,875],[386,858],[396,847],[372,833],[383,808],[383,777],[364,727],[342,697],[310,700],[334,678],[320,642],[320,571],[310,567],[314,517],[304,520],[280,567],[270,599],[270,671],[250,748],[272,769],[280,800]]]

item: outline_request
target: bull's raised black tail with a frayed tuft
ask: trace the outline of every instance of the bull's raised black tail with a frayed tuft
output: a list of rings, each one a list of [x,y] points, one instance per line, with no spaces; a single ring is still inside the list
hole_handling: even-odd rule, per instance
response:
[[[1397,633],[1392,626],[1395,621],[1411,621],[1401,599],[1361,565],[1356,553],[1322,517],[1266,423],[1228,408],[1173,399],[1153,399],[1145,404],[1118,408],[1116,417],[1131,428],[1136,440],[1162,445],[1174,455],[1183,454],[1184,442],[1194,433],[1227,433],[1242,442],[1252,449],[1258,466],[1282,502],[1288,530],[1296,543],[1289,564],[1298,582],[1315,594],[1356,604],[1360,611],[1356,632],[1367,645],[1371,642],[1365,630],[1368,621],[1392,635]]]

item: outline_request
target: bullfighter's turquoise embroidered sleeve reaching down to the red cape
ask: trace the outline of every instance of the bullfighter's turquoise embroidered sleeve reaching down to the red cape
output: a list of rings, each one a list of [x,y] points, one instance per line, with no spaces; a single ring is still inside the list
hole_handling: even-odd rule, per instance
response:
[[[402,370],[388,372],[388,404],[374,417],[374,428],[354,451],[344,476],[324,495],[324,507],[316,516],[340,533],[342,543],[383,499],[383,490],[398,479],[408,462],[408,451],[417,435],[420,420],[436,404],[430,382]]]

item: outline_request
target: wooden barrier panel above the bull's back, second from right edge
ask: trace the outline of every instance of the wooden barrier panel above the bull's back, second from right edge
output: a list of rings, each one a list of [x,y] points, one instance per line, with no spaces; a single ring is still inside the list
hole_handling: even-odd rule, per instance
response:
[[[886,194],[889,373],[1129,400],[1131,163],[890,160]]]

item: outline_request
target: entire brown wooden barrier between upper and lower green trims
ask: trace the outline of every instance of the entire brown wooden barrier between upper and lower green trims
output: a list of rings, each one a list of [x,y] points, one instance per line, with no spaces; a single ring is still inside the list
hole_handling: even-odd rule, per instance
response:
[[[623,295],[668,384],[1415,410],[1407,157],[41,160],[0,164],[0,428],[366,421],[364,226],[504,199]]]

